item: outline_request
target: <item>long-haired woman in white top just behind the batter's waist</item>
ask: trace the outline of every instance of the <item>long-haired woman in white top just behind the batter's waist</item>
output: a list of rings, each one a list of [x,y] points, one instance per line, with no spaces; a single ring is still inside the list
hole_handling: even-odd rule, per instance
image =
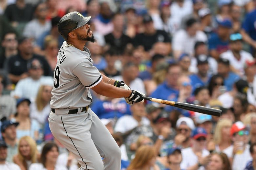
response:
[[[41,85],[38,89],[35,101],[30,105],[30,118],[36,120],[42,128],[51,112],[50,101],[53,86]]]

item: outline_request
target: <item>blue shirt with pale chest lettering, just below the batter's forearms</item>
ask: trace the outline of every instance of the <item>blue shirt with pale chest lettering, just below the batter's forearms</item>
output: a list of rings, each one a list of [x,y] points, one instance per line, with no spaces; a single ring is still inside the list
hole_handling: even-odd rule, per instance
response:
[[[97,100],[90,108],[100,119],[119,118],[126,114],[131,115],[130,105],[128,105],[125,100],[119,100],[117,103],[108,100]]]

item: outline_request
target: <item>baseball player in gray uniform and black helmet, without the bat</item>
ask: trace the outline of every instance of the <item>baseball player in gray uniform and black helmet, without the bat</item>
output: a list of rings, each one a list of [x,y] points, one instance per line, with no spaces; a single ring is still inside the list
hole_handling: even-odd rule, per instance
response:
[[[144,102],[144,94],[101,75],[93,66],[90,51],[84,47],[87,41],[95,41],[86,24],[90,18],[71,12],[59,21],[58,31],[66,41],[58,52],[54,70],[49,126],[53,136],[75,155],[80,170],[120,170],[121,151],[89,108],[89,89],[107,97],[125,97],[129,104]]]

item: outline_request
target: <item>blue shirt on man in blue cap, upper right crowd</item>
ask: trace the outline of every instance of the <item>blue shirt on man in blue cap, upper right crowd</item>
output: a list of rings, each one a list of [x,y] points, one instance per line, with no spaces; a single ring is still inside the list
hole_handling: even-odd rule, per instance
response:
[[[219,53],[228,50],[228,40],[223,41],[219,35],[212,33],[209,38],[209,50],[217,50]]]

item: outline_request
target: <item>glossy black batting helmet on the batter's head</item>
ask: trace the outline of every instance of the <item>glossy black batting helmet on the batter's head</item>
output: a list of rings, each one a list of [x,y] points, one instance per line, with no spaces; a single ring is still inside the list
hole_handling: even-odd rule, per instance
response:
[[[62,35],[62,37],[67,40],[68,39],[68,33],[73,31],[76,28],[79,28],[83,25],[85,25],[91,17],[84,17],[79,12],[70,12],[66,15],[64,15],[58,24],[58,31]]]

